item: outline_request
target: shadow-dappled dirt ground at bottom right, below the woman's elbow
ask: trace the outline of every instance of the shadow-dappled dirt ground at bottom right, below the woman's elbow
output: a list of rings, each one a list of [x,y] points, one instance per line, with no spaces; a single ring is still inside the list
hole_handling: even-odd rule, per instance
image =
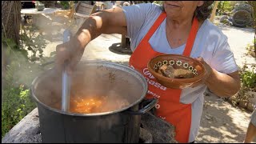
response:
[[[243,142],[250,112],[231,106],[217,96],[205,96],[200,130],[196,142]]]

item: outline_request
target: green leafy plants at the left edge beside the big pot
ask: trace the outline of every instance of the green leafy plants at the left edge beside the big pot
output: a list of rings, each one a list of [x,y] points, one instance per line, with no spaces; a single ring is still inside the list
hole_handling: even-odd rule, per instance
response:
[[[29,62],[21,51],[10,46],[15,44],[10,43],[6,48],[6,51],[9,51],[6,56],[12,61],[6,66],[6,70],[2,71],[2,137],[36,107],[30,98],[29,87],[34,78],[42,72],[37,63]]]

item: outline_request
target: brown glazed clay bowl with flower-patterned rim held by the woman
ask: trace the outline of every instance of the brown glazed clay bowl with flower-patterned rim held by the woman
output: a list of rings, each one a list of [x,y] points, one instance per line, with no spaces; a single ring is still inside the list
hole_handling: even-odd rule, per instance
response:
[[[169,78],[159,72],[162,66],[171,66],[174,70],[184,70],[192,74],[191,78]],[[184,89],[189,86],[196,86],[205,76],[206,70],[202,62],[179,54],[164,54],[150,59],[148,69],[154,78],[168,88]]]

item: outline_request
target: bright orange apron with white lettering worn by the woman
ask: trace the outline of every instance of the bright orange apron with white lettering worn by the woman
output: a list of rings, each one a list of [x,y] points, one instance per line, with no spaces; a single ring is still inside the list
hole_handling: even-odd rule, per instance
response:
[[[180,103],[182,90],[170,89],[162,86],[147,70],[147,63],[150,59],[162,54],[152,49],[149,40],[165,18],[166,13],[160,14],[158,19],[154,22],[154,25],[142,39],[142,42],[140,42],[136,50],[134,50],[134,53],[130,57],[129,64],[135,70],[138,70],[143,74],[149,83],[149,91],[146,98],[158,98],[158,104],[155,106],[158,117],[165,119],[175,126],[175,139],[178,142],[188,142],[191,124],[191,104]],[[190,56],[197,31],[198,19],[194,18],[183,55]]]

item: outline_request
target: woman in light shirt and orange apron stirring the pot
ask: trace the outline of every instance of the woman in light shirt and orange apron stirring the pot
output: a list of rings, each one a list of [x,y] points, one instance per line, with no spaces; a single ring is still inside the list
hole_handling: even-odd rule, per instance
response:
[[[221,97],[230,97],[240,88],[238,66],[227,38],[206,20],[212,3],[166,1],[163,6],[146,3],[93,14],[70,42],[57,46],[56,66],[62,70],[63,62],[69,59],[67,70],[71,73],[91,40],[100,34],[114,33],[126,34],[131,39],[134,53],[130,57],[130,66],[142,74],[147,70],[150,58],[159,54],[197,58],[207,71],[207,77],[198,86],[172,90],[149,85],[150,93],[147,94],[148,98],[158,95],[157,114],[176,127],[175,139],[194,142],[206,87]]]

